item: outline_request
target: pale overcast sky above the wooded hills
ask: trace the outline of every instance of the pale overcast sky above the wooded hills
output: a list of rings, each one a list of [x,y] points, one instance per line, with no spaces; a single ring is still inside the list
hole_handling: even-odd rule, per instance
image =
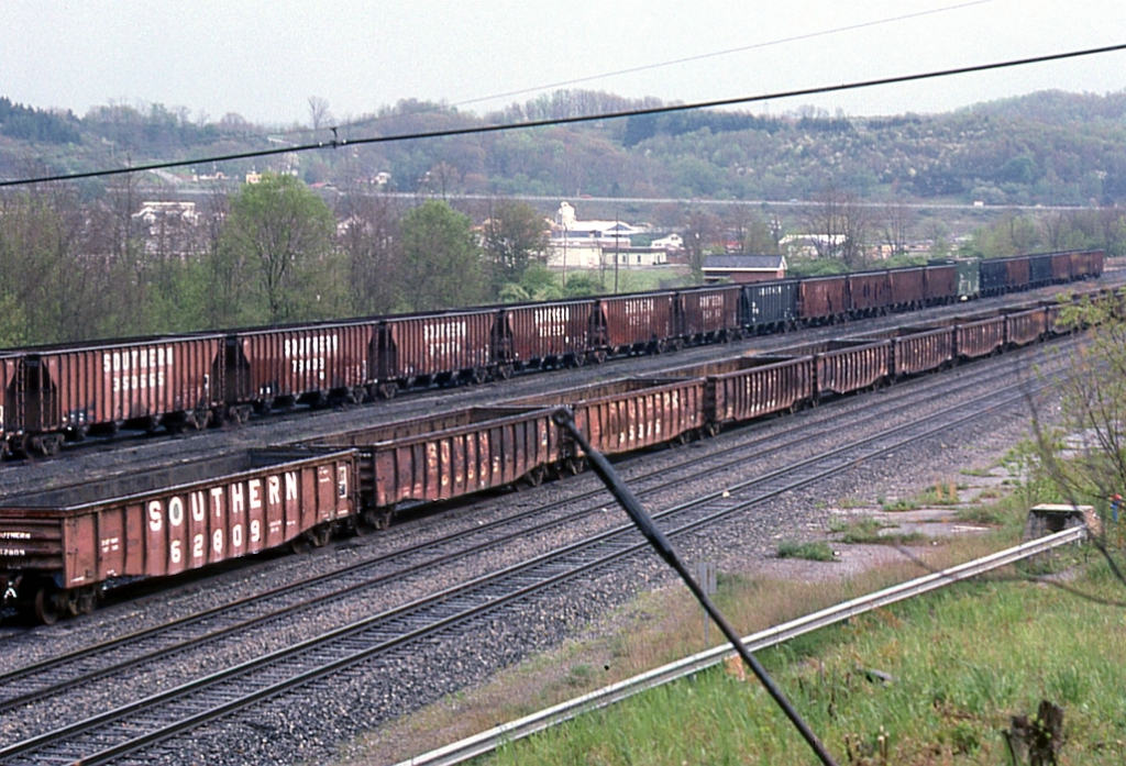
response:
[[[338,121],[403,98],[483,114],[563,87],[692,102],[1114,45],[1126,1],[0,0],[0,96],[27,106],[289,125],[310,121],[311,96]],[[933,112],[1048,88],[1123,90],[1126,53],[753,109]]]

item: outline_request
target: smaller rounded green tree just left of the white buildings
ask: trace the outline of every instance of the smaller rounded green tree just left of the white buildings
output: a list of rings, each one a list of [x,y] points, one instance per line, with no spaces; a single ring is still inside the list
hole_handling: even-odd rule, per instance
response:
[[[481,247],[470,218],[429,200],[400,222],[401,304],[421,312],[471,306],[484,298]]]

